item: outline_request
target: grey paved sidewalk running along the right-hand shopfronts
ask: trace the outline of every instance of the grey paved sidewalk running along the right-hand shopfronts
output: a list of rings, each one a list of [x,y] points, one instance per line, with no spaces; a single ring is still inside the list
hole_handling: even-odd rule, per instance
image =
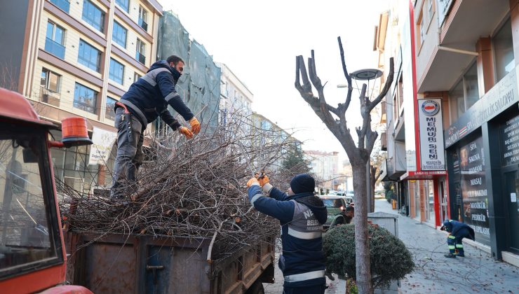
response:
[[[375,211],[398,214],[386,200]],[[401,280],[400,293],[519,293],[519,269],[464,244],[466,258],[445,258],[445,234],[406,216],[398,217],[398,237],[411,251],[415,269]]]

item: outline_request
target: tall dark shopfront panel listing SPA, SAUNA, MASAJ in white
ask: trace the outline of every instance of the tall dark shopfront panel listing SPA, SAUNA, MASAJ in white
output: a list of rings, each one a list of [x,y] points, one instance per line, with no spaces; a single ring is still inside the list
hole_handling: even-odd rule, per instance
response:
[[[490,244],[483,139],[479,137],[461,146],[451,156],[453,167],[450,181],[454,183],[454,203],[459,221],[473,228],[478,242]]]

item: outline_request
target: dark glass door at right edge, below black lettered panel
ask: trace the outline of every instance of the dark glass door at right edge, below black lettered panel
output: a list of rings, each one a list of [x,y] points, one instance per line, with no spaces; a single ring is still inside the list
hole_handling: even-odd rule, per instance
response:
[[[508,212],[508,240],[510,251],[519,253],[519,172],[506,172],[505,179],[505,193],[504,204],[506,205],[506,212]]]

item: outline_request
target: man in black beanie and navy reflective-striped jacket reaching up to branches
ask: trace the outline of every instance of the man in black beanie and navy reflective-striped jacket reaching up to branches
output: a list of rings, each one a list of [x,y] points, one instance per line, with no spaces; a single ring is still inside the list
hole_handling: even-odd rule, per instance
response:
[[[323,201],[314,196],[314,178],[309,174],[295,176],[290,181],[288,194],[274,188],[267,176],[252,178],[247,186],[252,207],[281,223],[283,254],[278,265],[285,279],[283,293],[324,293],[322,234],[328,213]]]

